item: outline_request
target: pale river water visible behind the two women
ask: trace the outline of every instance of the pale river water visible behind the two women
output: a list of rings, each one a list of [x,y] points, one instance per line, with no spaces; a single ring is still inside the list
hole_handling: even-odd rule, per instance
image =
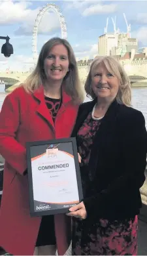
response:
[[[132,106],[140,110],[146,119],[147,128],[147,87],[131,88],[132,91]],[[5,99],[5,93],[0,93],[0,109]],[[89,99],[86,98],[85,101]]]

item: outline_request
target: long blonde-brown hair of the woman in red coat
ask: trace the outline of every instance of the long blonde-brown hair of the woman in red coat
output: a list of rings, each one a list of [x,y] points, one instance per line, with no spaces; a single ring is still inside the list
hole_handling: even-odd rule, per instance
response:
[[[82,85],[78,77],[76,58],[69,42],[59,37],[54,37],[43,45],[35,70],[33,70],[29,77],[24,81],[24,89],[27,93],[33,93],[35,90],[39,89],[42,83],[44,83],[46,80],[44,74],[44,59],[55,45],[64,45],[69,54],[69,72],[67,72],[63,78],[65,93],[71,96],[74,102],[81,103],[84,100],[84,90],[82,91]]]

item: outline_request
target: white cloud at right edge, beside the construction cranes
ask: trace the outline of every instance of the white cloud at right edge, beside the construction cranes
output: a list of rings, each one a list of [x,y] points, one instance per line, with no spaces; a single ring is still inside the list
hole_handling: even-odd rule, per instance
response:
[[[142,45],[146,45],[147,41],[147,26],[142,26],[138,30],[131,33],[131,37],[137,38]]]

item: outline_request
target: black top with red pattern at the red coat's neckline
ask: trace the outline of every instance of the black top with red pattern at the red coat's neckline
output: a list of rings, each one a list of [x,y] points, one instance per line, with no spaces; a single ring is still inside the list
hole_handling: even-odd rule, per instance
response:
[[[52,116],[53,121],[55,121],[57,112],[61,106],[61,99],[49,98],[47,96],[44,96],[44,100],[46,102],[46,106],[50,110],[50,114]]]

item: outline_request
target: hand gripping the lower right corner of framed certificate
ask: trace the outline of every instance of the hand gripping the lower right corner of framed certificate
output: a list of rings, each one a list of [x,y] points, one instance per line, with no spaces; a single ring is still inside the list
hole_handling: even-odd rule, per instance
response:
[[[80,219],[86,219],[87,212],[84,202],[78,203],[69,209],[70,213],[67,213],[67,216],[73,216]]]

